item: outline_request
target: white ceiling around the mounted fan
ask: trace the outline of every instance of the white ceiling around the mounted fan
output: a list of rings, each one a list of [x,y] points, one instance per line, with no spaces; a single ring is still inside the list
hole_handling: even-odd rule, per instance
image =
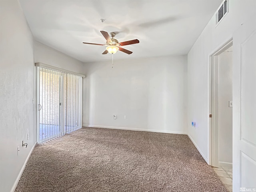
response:
[[[118,32],[115,59],[187,54],[222,0],[20,0],[35,39],[82,62],[110,60],[100,30]],[[104,23],[100,19],[105,19]]]

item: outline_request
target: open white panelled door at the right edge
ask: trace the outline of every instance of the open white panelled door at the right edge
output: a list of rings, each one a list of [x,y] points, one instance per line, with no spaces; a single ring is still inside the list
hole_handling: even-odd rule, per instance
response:
[[[256,191],[256,16],[233,36],[233,191]],[[249,190],[248,190],[249,189]]]

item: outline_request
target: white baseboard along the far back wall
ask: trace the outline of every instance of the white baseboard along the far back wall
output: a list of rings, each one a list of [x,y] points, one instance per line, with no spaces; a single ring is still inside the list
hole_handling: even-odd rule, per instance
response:
[[[83,127],[94,127],[94,128],[107,128],[107,129],[122,129],[131,131],[148,131],[158,133],[172,133],[172,134],[187,134],[186,132],[180,131],[168,131],[168,130],[153,130],[153,129],[138,129],[138,128],[127,128],[127,127],[112,127],[112,126],[101,126],[101,125],[83,125]]]

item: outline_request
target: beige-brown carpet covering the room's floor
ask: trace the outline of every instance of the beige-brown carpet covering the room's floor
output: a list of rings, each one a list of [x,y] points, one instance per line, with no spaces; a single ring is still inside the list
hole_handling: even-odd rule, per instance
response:
[[[82,128],[36,146],[16,192],[228,192],[188,136]]]

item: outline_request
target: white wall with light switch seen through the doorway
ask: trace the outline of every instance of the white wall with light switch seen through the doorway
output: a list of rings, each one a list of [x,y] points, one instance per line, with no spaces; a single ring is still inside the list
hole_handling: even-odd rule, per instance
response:
[[[231,51],[230,49],[227,51]],[[218,56],[218,161],[220,166],[232,164],[232,52]]]

